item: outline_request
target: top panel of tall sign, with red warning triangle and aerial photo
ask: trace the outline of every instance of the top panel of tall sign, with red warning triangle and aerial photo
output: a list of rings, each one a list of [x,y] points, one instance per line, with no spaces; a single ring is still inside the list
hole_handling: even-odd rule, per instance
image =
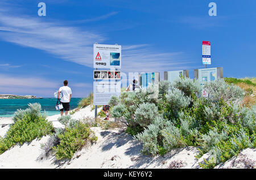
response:
[[[120,45],[93,45],[93,67],[94,68],[121,68],[121,46]]]

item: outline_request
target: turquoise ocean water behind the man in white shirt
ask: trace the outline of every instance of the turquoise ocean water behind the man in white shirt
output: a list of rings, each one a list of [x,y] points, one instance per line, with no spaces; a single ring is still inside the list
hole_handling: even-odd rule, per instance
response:
[[[70,109],[77,108],[81,98],[71,98]],[[56,98],[41,99],[0,99],[0,117],[12,117],[17,109],[28,108],[28,103],[38,102],[42,106],[42,112],[46,110],[48,115],[59,114],[60,110],[55,109]]]

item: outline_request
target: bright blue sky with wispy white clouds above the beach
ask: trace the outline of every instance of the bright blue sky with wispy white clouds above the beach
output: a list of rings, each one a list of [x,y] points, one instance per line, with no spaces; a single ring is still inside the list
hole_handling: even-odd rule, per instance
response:
[[[38,16],[38,3],[46,16]],[[209,16],[208,4],[217,4]],[[204,68],[202,41],[225,77],[255,77],[256,1],[16,0],[0,2],[0,94],[73,97],[93,91],[93,43],[122,45],[122,72]]]

